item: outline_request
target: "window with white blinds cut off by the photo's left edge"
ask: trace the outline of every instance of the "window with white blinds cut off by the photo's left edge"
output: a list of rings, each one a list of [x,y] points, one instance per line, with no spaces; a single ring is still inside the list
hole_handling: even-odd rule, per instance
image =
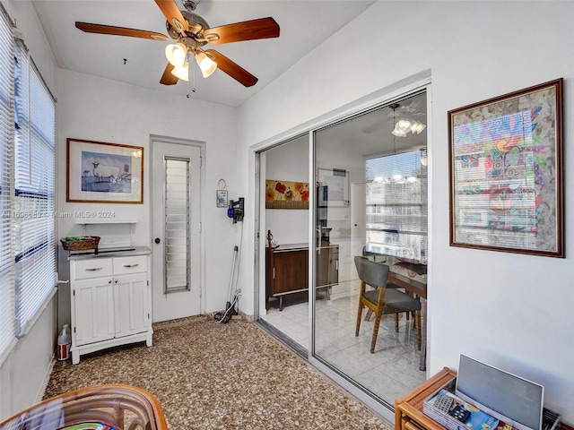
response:
[[[0,4],[0,357],[15,340],[13,250],[13,26]],[[0,359],[0,363],[2,363]]]

